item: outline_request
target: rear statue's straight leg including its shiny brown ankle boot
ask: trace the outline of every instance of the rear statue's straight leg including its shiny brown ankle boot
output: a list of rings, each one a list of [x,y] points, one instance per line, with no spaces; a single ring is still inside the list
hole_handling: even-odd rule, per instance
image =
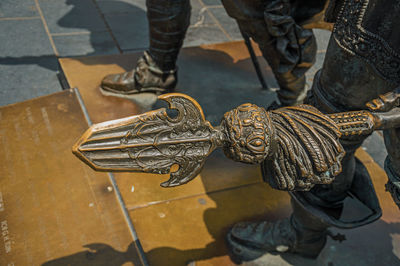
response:
[[[189,0],[147,0],[150,47],[135,69],[106,76],[100,90],[129,98],[141,92],[165,93],[177,83],[176,60],[190,24]]]

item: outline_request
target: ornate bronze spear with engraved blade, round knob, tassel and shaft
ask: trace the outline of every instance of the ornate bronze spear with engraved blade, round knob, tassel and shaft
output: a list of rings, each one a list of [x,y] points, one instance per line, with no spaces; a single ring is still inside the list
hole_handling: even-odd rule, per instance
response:
[[[222,147],[236,161],[272,162],[281,189],[309,189],[331,182],[341,171],[340,137],[400,126],[396,108],[386,113],[324,115],[308,105],[265,111],[244,104],[213,127],[191,97],[171,93],[159,99],[176,109],[177,116],[168,116],[162,108],[95,124],[74,145],[73,153],[98,171],[170,173],[161,186],[173,187],[192,180],[210,153]],[[173,165],[178,166],[175,172]]]

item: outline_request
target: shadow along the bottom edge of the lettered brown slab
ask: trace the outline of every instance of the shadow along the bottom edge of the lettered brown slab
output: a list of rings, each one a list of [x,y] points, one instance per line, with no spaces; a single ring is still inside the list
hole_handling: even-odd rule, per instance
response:
[[[133,265],[141,265],[140,258],[135,247],[135,242],[129,244],[125,252],[115,250],[113,247],[104,243],[91,243],[84,245],[86,250],[47,261],[42,266],[121,266],[132,262]]]

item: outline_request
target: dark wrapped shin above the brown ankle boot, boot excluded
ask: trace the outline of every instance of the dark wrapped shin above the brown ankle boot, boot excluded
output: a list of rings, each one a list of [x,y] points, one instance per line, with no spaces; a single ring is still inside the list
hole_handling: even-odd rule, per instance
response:
[[[190,24],[189,0],[147,0],[149,53],[163,71],[175,69]]]

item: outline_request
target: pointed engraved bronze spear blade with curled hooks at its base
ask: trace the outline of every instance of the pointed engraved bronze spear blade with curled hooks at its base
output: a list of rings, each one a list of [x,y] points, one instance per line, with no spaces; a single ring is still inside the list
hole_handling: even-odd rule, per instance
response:
[[[202,169],[205,159],[221,146],[221,132],[205,120],[200,105],[179,93],[161,95],[176,109],[171,118],[165,108],[93,125],[74,145],[73,152],[100,171],[166,174],[163,187],[185,184]]]

